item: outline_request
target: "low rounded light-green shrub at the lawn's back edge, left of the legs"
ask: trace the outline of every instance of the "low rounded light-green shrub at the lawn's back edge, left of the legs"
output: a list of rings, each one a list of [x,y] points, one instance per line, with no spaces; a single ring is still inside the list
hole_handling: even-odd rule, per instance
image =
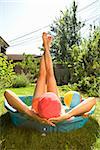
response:
[[[19,87],[26,87],[29,84],[29,80],[24,74],[16,75],[13,80],[12,87],[19,88]]]

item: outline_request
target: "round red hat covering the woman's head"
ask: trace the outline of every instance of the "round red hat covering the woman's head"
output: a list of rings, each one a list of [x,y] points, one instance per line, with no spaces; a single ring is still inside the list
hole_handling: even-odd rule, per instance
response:
[[[61,115],[61,102],[55,93],[45,93],[38,103],[38,113],[42,118],[53,118]]]

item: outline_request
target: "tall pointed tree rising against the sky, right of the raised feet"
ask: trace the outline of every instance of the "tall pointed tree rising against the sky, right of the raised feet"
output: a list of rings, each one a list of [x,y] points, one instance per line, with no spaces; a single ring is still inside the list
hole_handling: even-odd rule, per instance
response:
[[[77,19],[77,5],[73,2],[70,10],[61,11],[60,18],[54,21],[51,32],[54,35],[52,55],[56,62],[65,63],[71,60],[70,48],[81,42],[80,29],[82,24]]]

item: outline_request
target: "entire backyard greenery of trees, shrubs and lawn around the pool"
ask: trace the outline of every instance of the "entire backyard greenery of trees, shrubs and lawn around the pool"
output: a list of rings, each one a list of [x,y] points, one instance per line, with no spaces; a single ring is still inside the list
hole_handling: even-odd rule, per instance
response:
[[[82,38],[80,29],[84,23],[77,20],[77,5],[51,25],[52,60],[63,65],[62,78],[56,76],[59,95],[67,91],[81,93],[83,97],[96,97],[94,114],[86,125],[66,133],[42,133],[26,128],[16,128],[4,107],[4,91],[10,89],[17,95],[33,95],[39,72],[40,58],[23,54],[23,61],[13,63],[0,54],[0,149],[1,150],[99,150],[100,149],[100,26],[91,26],[88,38]],[[43,50],[43,48],[41,48]],[[21,73],[15,72],[19,66]],[[54,68],[55,69],[55,68]],[[62,74],[61,74],[62,75]]]

